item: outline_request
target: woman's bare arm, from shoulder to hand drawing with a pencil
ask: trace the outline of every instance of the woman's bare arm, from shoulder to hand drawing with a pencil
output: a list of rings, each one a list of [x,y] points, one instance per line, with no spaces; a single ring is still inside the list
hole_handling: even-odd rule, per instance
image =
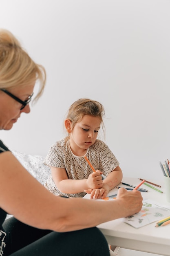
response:
[[[66,232],[131,216],[141,210],[142,197],[124,188],[109,202],[58,197],[8,151],[0,154],[0,207],[33,227]]]

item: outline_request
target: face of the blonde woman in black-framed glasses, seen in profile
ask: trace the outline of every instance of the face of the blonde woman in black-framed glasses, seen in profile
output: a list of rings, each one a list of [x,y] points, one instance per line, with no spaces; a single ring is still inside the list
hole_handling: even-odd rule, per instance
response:
[[[25,85],[24,87],[10,88],[7,91],[13,95],[26,101],[28,97],[33,93],[35,83]],[[14,123],[17,122],[22,112],[29,113],[29,104],[22,110],[20,108],[22,104],[10,97],[8,94],[0,90],[0,130],[10,130]]]

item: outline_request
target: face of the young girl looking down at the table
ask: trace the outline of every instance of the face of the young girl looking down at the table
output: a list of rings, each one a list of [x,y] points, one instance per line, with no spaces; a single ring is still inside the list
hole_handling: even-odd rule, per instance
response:
[[[73,154],[82,156],[87,149],[92,146],[100,129],[101,119],[85,115],[81,121],[77,122],[70,132],[70,147]]]

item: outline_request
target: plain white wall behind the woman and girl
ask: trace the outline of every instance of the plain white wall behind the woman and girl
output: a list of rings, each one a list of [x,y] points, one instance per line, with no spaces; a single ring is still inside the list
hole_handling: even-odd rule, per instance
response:
[[[125,176],[162,179],[170,158],[170,1],[0,0],[0,27],[44,65],[44,95],[0,138],[45,156],[73,101],[106,110],[106,143]]]

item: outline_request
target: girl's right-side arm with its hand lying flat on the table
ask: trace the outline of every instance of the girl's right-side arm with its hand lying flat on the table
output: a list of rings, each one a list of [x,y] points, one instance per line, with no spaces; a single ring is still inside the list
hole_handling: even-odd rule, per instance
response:
[[[101,189],[85,190],[86,193],[91,193],[91,199],[105,198],[111,189],[114,189],[121,180],[123,174],[121,168],[117,166],[107,177],[103,180],[103,186]]]

